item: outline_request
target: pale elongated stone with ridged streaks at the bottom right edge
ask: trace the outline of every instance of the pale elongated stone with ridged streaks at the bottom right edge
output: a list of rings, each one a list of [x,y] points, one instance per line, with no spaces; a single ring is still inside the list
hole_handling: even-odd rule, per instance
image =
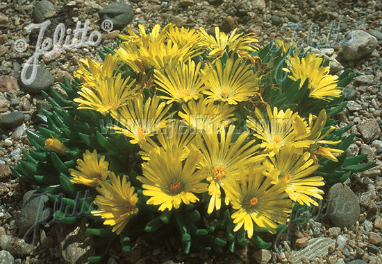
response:
[[[335,240],[331,238],[313,238],[308,245],[299,251],[292,251],[288,261],[290,263],[300,263],[303,259],[313,261],[315,258],[321,258],[328,255],[329,247],[335,247]]]

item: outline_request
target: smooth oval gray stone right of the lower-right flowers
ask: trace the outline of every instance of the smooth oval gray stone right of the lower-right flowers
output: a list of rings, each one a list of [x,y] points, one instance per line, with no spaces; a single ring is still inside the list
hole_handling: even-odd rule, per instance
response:
[[[360,204],[351,189],[341,183],[331,186],[327,197],[329,218],[337,227],[351,227],[360,218]]]

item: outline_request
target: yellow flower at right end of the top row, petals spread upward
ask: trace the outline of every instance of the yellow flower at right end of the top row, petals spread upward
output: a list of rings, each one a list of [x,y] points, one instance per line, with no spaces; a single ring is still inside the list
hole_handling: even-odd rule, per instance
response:
[[[238,28],[235,28],[228,37],[223,32],[220,32],[218,27],[215,27],[215,36],[208,34],[204,28],[199,28],[201,45],[210,50],[208,55],[215,57],[221,56],[225,52],[226,46],[230,51],[238,52],[244,57],[246,54],[256,51],[256,46],[252,44],[258,42],[256,35],[254,33],[236,35],[236,30]]]

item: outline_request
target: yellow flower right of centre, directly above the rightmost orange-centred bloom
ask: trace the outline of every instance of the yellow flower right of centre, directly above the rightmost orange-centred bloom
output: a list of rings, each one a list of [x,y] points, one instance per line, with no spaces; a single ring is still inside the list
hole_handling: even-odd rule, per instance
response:
[[[254,130],[254,136],[261,139],[261,148],[273,156],[278,153],[280,148],[286,143],[292,143],[294,152],[301,151],[302,148],[307,148],[313,143],[308,137],[304,127],[300,127],[301,123],[295,122],[297,113],[293,113],[291,109],[278,111],[277,107],[267,107],[267,118],[263,116],[260,109],[255,109],[256,119],[247,116],[247,126]]]

